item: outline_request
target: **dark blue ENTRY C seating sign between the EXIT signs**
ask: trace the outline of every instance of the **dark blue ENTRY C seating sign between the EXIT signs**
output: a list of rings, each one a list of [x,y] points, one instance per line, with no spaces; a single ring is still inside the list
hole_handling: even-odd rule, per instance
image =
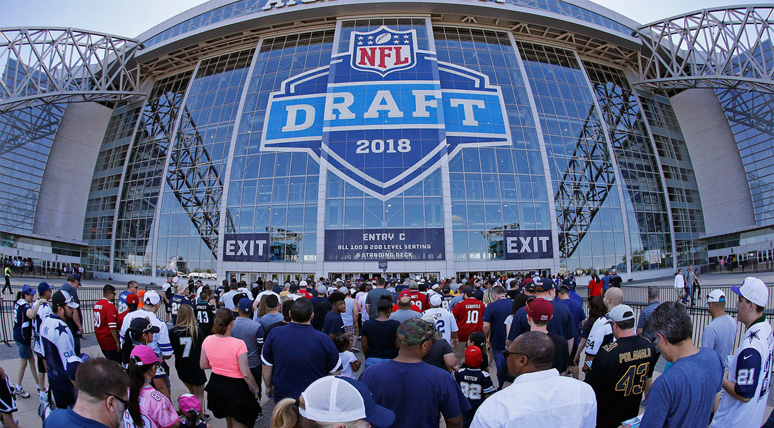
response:
[[[444,260],[444,229],[325,231],[327,262],[387,263],[387,260]]]

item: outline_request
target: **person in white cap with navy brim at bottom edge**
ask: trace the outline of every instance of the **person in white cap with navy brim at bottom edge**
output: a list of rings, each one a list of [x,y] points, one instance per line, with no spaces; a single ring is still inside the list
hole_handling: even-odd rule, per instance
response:
[[[392,410],[379,406],[368,387],[354,379],[325,376],[307,386],[298,399],[274,407],[271,428],[369,428],[391,426]]]

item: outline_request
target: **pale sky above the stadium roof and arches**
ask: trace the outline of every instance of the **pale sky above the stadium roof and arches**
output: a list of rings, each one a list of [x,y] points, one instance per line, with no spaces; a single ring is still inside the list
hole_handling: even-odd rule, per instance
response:
[[[749,0],[594,2],[644,24],[701,8],[748,4]],[[204,0],[0,0],[0,28],[72,27],[133,38],[201,3]]]

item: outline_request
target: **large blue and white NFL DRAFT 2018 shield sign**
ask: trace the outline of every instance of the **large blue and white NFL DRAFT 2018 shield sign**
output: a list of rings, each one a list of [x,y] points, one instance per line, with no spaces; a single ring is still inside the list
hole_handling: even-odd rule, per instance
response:
[[[461,148],[511,145],[500,88],[417,49],[413,29],[351,32],[347,52],[283,81],[266,110],[261,151],[306,151],[382,200]]]

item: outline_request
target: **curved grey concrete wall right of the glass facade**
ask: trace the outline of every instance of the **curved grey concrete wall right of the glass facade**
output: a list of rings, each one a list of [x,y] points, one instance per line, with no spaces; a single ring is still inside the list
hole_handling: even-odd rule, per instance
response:
[[[670,101],[694,164],[707,236],[754,228],[745,168],[714,90],[685,90]]]

